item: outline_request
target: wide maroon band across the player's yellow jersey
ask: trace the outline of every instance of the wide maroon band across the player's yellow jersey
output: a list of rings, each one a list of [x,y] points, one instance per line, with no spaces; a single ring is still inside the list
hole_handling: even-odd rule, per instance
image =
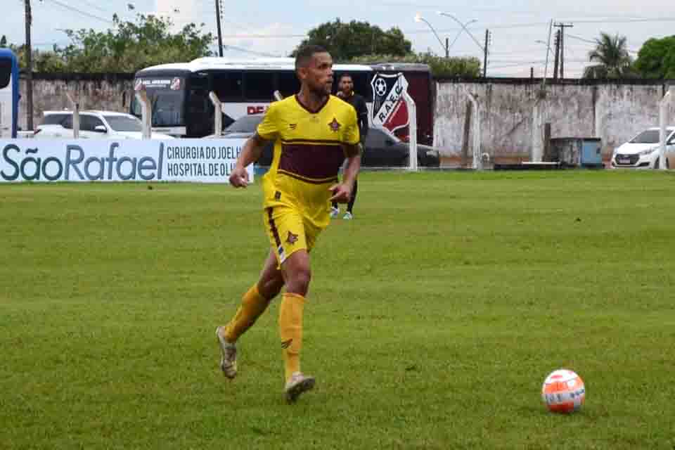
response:
[[[345,160],[342,146],[319,143],[282,143],[280,170],[307,179],[325,180],[338,176]]]

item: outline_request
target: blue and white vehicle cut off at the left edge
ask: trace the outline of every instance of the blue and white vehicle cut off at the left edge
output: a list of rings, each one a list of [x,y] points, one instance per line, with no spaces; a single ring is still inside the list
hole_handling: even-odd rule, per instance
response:
[[[9,49],[0,49],[0,138],[16,138],[19,120],[19,63]]]

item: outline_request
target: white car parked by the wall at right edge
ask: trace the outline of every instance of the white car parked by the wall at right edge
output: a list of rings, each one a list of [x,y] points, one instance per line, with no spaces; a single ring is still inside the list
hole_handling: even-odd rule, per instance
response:
[[[612,154],[612,169],[658,169],[660,128],[645,129],[630,141],[615,148]],[[666,128],[666,167],[670,160],[675,164],[675,127]]]

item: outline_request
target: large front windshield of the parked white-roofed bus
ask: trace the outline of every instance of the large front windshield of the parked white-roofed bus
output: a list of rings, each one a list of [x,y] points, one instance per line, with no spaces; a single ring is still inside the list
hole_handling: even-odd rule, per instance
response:
[[[153,110],[153,127],[181,127],[185,125],[185,83],[182,78],[136,79],[136,84],[146,87],[148,100]],[[141,103],[131,99],[131,114],[141,117]]]

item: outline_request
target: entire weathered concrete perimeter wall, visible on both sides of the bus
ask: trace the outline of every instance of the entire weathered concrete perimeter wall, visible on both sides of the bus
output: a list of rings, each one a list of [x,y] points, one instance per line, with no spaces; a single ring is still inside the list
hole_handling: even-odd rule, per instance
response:
[[[45,110],[70,108],[65,93],[82,109],[127,112],[133,74],[34,74],[34,124]],[[494,162],[529,160],[543,146],[541,124],[551,123],[551,137],[599,137],[603,155],[638,131],[659,124],[659,102],[670,81],[597,82],[541,79],[439,79],[435,85],[434,144],[444,160],[461,160],[466,136],[468,94],[480,105],[481,151]],[[675,84],[675,81],[673,81]],[[25,79],[20,92],[25,93]],[[20,127],[26,129],[26,96],[20,101]],[[536,114],[539,117],[536,117]],[[675,110],[671,108],[671,124]],[[470,150],[464,145],[465,153]]]

